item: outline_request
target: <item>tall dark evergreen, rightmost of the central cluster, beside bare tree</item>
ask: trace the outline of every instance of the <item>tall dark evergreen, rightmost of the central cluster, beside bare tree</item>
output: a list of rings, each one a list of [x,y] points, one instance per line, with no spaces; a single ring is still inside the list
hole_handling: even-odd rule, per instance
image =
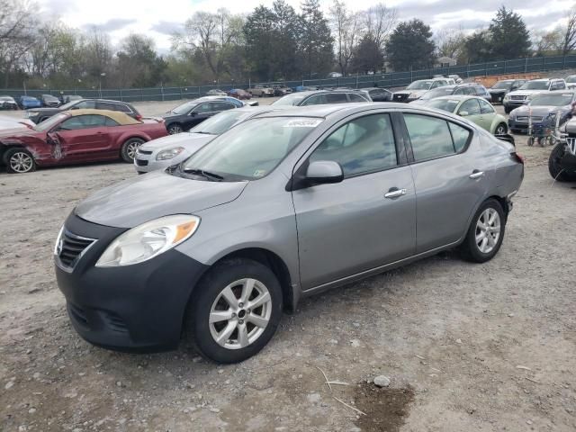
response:
[[[305,76],[323,75],[332,67],[333,38],[319,0],[304,0],[300,19],[300,65]]]

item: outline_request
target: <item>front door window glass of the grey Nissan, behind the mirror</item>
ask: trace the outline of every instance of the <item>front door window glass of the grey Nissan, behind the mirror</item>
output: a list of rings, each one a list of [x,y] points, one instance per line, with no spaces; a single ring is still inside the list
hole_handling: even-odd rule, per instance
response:
[[[346,177],[396,166],[398,159],[390,116],[373,114],[348,121],[322,141],[310,160],[338,162]]]

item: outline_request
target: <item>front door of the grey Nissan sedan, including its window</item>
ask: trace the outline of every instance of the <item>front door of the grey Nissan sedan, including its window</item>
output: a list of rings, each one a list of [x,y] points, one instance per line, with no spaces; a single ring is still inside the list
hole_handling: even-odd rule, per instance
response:
[[[309,161],[336,161],[345,178],[293,191],[302,289],[414,253],[414,185],[397,154],[388,113],[347,121],[313,150]]]

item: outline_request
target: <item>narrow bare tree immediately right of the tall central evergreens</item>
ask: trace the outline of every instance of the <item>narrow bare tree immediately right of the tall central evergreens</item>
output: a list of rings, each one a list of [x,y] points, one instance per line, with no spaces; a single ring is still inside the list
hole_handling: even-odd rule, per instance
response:
[[[347,10],[346,4],[334,0],[329,9],[329,21],[336,34],[336,58],[342,75],[347,75],[348,66],[362,37],[360,14]]]

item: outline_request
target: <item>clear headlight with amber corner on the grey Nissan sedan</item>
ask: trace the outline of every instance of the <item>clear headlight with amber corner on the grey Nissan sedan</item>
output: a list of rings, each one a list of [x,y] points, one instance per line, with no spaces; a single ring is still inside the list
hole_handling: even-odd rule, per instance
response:
[[[199,225],[200,218],[190,214],[150,220],[112,241],[96,267],[130,266],[148,261],[190,238]]]

